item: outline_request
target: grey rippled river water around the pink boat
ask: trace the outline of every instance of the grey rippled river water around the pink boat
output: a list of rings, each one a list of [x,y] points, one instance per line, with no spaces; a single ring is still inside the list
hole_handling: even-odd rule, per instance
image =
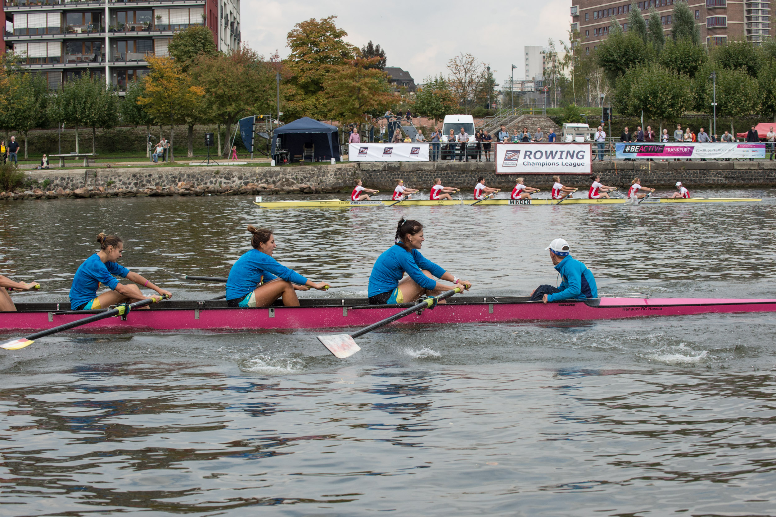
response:
[[[774,297],[776,190],[750,204],[262,210],[247,197],[0,204],[0,272],[67,300],[95,234],[178,299],[275,258],[365,295],[397,219],[473,293]],[[61,334],[0,353],[3,515],[776,515],[776,317],[396,326],[335,359],[314,331]],[[16,336],[6,336],[16,337]],[[253,514],[250,514],[253,515]]]

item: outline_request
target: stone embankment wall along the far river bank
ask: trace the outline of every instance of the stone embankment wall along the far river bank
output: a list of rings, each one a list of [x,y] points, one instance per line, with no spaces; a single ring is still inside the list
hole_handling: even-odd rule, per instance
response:
[[[681,181],[698,187],[776,186],[776,161],[603,161],[593,164],[605,185],[627,187],[639,176],[642,184],[673,187]],[[92,168],[29,172],[27,189],[0,193],[2,200],[109,196],[203,196],[237,194],[349,193],[356,178],[364,186],[390,192],[397,179],[407,186],[428,188],[435,178],[445,185],[473,189],[477,178],[487,185],[511,189],[515,179],[542,189],[552,175],[497,175],[491,162],[375,163],[300,165],[288,167]],[[590,176],[563,175],[564,185],[587,189]]]

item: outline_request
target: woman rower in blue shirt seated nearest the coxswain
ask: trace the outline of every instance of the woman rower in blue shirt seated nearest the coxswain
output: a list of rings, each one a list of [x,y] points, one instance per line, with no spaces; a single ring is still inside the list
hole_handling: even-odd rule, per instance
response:
[[[423,245],[423,225],[417,220],[405,220],[402,217],[397,226],[395,243],[377,258],[369,276],[369,304],[404,304],[423,295],[441,294],[455,289],[456,286],[469,289],[470,282],[459,279],[446,272],[434,262],[426,259],[421,252]],[[404,273],[407,278],[404,278]],[[447,280],[456,285],[449,286],[437,282],[433,277]],[[445,301],[440,302],[444,304]]]

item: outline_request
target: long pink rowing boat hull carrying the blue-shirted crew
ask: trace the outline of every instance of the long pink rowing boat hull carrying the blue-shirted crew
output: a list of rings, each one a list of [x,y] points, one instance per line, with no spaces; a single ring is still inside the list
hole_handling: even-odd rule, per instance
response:
[[[364,298],[307,298],[301,307],[240,309],[223,300],[154,304],[123,317],[109,317],[76,332],[255,331],[294,328],[363,327],[390,317],[411,304],[369,306]],[[69,311],[70,304],[16,304],[18,312],[0,312],[0,328],[40,331],[99,311]],[[729,298],[597,298],[542,304],[528,297],[453,297],[435,309],[411,314],[394,324],[496,323],[506,321],[610,320],[623,317],[684,316],[774,312],[776,300]]]

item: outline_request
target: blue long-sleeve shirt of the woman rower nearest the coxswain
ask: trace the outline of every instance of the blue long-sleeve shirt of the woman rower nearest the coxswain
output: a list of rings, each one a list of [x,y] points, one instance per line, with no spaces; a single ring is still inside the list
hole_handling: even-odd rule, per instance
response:
[[[369,275],[369,297],[380,293],[390,293],[397,288],[404,273],[423,289],[432,290],[436,287],[433,279],[425,276],[421,269],[426,269],[437,278],[442,278],[445,270],[434,262],[426,259],[417,249],[407,252],[400,245],[393,245],[377,258]]]

